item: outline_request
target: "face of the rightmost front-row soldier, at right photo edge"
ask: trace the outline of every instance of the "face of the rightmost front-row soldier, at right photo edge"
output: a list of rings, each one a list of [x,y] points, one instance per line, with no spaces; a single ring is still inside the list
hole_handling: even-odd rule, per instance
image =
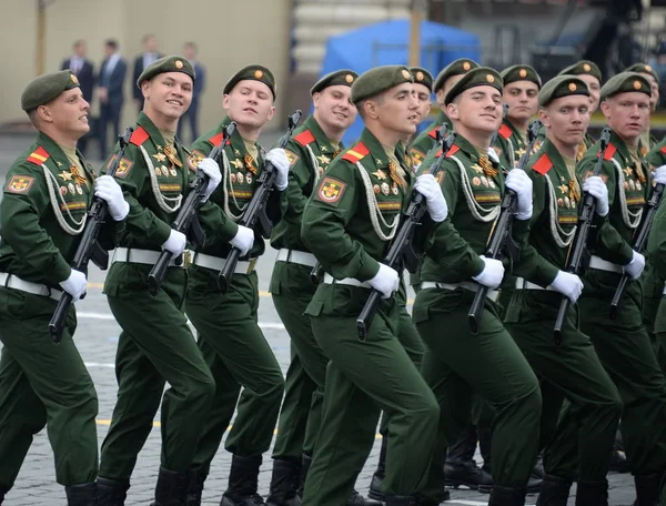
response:
[[[632,91],[602,102],[606,122],[623,140],[637,142],[649,124],[649,97]]]

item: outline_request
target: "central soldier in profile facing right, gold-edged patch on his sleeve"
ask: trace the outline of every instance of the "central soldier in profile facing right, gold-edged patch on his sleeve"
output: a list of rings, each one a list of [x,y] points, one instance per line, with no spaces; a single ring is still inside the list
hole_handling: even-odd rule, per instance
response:
[[[356,145],[321,179],[303,213],[302,239],[326,272],[307,306],[317,344],[331,361],[322,424],[305,482],[304,506],[339,506],[349,497],[373,442],[380,409],[389,416],[386,505],[415,505],[435,436],[431,389],[397,338],[398,274],[382,264],[396,233],[412,174],[398,143],[416,130],[417,101],[406,67],[365,72],[352,101],[365,123]],[[415,183],[430,216],[446,203],[432,176]],[[383,294],[365,342],[356,318],[371,289]]]

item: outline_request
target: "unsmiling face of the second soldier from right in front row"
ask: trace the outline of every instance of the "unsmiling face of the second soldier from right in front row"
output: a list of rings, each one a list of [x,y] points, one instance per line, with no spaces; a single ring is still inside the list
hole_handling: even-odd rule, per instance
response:
[[[567,146],[577,146],[589,124],[589,98],[571,95],[555,99],[538,115],[548,129],[548,136]]]

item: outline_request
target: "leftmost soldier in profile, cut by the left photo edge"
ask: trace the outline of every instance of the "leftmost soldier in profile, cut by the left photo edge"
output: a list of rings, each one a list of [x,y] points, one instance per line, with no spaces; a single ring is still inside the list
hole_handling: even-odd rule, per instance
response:
[[[77,150],[90,130],[89,103],[71,71],[33,79],[21,109],[39,134],[9,169],[0,204],[0,504],[33,435],[47,426],[68,505],[93,506],[98,398],[72,340],[74,306],[58,346],[48,325],[63,292],[74,302],[85,292],[85,273],[70,262],[93,191],[107,201],[113,221],[124,220],[128,204],[111,178],[95,180]]]

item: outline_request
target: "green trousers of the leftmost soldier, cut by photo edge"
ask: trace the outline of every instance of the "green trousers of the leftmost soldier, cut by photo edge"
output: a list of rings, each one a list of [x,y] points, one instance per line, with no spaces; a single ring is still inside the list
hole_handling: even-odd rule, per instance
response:
[[[94,385],[72,340],[73,307],[62,342],[48,325],[56,301],[0,287],[0,487],[14,484],[33,436],[44,425],[61,485],[94,482],[98,443]]]

